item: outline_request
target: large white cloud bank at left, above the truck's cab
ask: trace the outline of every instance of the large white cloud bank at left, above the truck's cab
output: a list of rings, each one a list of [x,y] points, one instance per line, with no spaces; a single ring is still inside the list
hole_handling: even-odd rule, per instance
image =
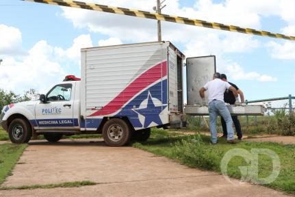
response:
[[[21,31],[5,25],[0,25],[1,28],[5,29],[5,34],[0,31],[0,35],[8,38],[0,45],[0,56],[3,59],[0,65],[0,88],[18,94],[29,88],[42,93],[51,83],[62,81],[64,76],[79,70],[80,49],[92,47],[90,35],[78,36],[68,49],[53,47],[47,41],[40,40],[27,53],[19,56],[14,51],[22,49]],[[10,51],[8,47],[14,50]]]

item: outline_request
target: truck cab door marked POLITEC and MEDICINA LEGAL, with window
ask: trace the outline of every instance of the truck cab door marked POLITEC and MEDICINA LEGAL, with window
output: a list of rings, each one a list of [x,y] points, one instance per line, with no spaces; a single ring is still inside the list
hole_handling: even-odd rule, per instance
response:
[[[74,129],[73,120],[75,83],[54,86],[45,96],[47,103],[38,103],[35,108],[36,123],[41,130]]]

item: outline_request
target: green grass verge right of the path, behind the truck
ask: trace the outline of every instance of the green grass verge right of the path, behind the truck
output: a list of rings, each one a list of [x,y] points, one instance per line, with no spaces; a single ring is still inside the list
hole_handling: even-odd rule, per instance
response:
[[[211,170],[220,173],[220,161],[231,148],[244,148],[251,151],[253,148],[268,148],[279,155],[281,172],[277,179],[266,186],[279,189],[283,192],[295,194],[295,145],[283,145],[271,142],[240,142],[235,145],[227,144],[225,139],[219,139],[218,144],[209,144],[209,137],[205,135],[169,136],[169,132],[163,136],[153,129],[151,139],[142,144],[135,143],[132,146],[162,155],[185,164],[192,168]],[[194,142],[193,142],[194,141]],[[240,179],[239,166],[248,166],[242,157],[233,157],[229,162],[229,176]],[[272,172],[272,161],[267,155],[259,155],[259,178],[267,177]]]

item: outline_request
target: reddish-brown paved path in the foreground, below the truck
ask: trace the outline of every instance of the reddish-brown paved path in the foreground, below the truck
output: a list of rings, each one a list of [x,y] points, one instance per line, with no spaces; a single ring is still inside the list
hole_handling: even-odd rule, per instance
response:
[[[94,181],[99,185],[0,190],[0,196],[285,196],[259,185],[188,168],[131,147],[107,147],[100,140],[30,142],[3,186]]]

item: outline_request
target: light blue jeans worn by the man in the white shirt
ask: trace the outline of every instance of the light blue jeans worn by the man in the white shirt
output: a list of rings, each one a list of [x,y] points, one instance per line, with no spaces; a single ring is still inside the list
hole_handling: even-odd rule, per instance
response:
[[[231,114],[229,109],[223,101],[211,101],[209,103],[209,116],[210,116],[210,131],[211,131],[211,142],[217,143],[217,131],[216,131],[216,119],[218,114],[225,119],[227,124],[227,140],[233,140],[233,120],[231,119]]]

